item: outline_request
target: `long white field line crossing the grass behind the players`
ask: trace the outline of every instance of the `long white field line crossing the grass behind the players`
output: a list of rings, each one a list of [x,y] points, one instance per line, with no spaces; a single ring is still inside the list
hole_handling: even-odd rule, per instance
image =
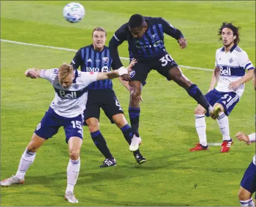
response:
[[[68,49],[68,48],[64,48],[64,47],[52,47],[52,46],[47,46],[47,45],[38,45],[38,44],[31,44],[31,43],[26,43],[26,42],[16,42],[16,41],[9,41],[7,39],[1,39],[1,42],[9,42],[9,43],[14,43],[14,44],[19,44],[19,45],[30,45],[30,46],[34,46],[34,47],[45,47],[45,48],[49,48],[49,49],[66,50],[66,51],[72,51],[72,52],[77,51],[75,49]],[[123,59],[123,60],[129,60],[129,58],[124,58],[124,57],[120,57],[120,58]],[[181,64],[180,64],[180,66],[181,66],[181,68],[199,69],[199,70],[202,70],[202,71],[213,71],[212,69],[184,66],[184,65],[181,65]]]

